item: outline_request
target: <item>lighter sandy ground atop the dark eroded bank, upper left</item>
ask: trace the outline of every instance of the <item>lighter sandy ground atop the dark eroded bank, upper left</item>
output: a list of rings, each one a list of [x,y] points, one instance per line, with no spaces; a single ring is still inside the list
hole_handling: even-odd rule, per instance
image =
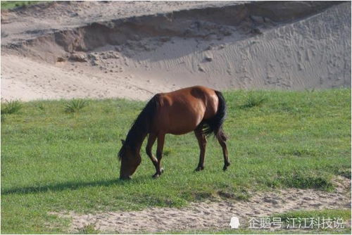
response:
[[[246,1],[53,1],[1,11],[1,44],[32,39],[41,34],[91,23]]]

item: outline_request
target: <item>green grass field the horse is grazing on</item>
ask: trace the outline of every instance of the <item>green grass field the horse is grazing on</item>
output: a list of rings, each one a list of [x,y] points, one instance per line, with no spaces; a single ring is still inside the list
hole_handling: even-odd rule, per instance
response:
[[[144,102],[87,100],[80,110],[73,101],[3,104],[1,232],[65,232],[69,221],[48,212],[182,207],[224,192],[245,200],[249,190],[285,187],[330,191],[334,175],[351,178],[350,89],[224,95],[227,172],[213,138],[205,170],[194,172],[194,134],[168,135],[162,177],[151,178],[154,168],[143,151],[127,182],[118,180],[116,155]]]

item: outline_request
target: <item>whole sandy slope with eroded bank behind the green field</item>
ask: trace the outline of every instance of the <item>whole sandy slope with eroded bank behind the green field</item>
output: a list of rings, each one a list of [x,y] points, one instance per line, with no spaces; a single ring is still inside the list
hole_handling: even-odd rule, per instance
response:
[[[351,4],[89,1],[1,11],[1,99],[146,100],[194,84],[351,87]]]

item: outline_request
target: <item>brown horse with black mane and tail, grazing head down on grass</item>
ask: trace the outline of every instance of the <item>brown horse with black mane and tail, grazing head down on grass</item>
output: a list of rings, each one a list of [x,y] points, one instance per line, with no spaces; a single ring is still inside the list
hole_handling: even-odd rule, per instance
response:
[[[170,93],[156,94],[146,104],[138,118],[134,121],[118,156],[121,160],[120,179],[130,179],[130,176],[141,163],[139,154],[142,143],[148,136],[146,154],[156,168],[153,177],[163,173],[161,158],[165,134],[186,134],[194,131],[198,139],[201,153],[196,171],[204,169],[206,153],[206,136],[215,134],[222,147],[224,167],[230,165],[227,157],[226,135],[222,130],[225,120],[226,103],[220,91],[207,87],[188,87]],[[151,153],[154,142],[158,139],[156,158]]]

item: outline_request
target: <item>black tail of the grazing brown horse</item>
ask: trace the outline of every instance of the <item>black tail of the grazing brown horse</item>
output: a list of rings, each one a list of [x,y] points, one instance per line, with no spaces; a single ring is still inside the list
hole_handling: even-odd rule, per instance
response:
[[[202,129],[204,134],[210,135],[214,133],[215,136],[220,137],[223,140],[226,140],[227,137],[222,131],[222,124],[224,123],[226,118],[226,101],[220,91],[215,91],[215,94],[218,96],[218,99],[219,99],[218,112],[215,114],[213,118],[210,118],[208,120],[203,120],[201,125],[203,127]]]

